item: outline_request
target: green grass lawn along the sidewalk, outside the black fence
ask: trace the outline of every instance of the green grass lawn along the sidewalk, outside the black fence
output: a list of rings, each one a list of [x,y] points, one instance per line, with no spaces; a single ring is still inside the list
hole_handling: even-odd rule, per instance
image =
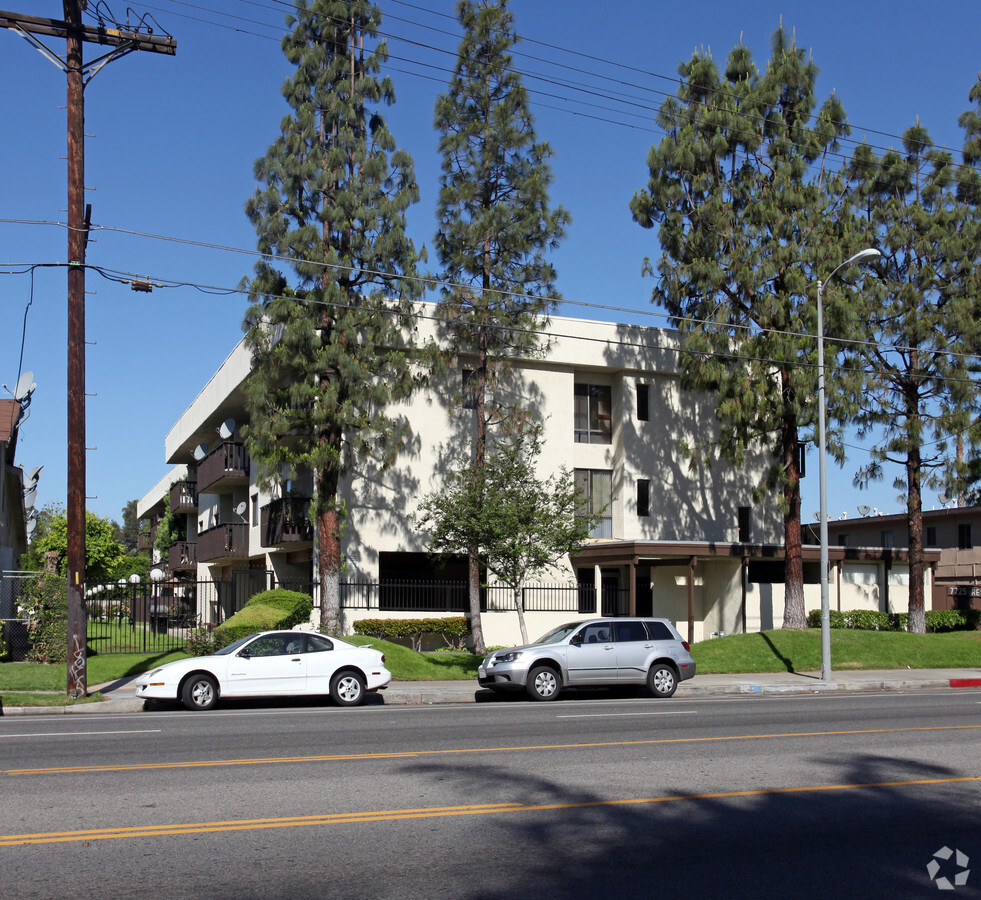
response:
[[[370,644],[385,654],[385,664],[396,681],[470,681],[477,677],[480,657],[468,652],[416,653],[408,647],[378,638],[353,635],[344,640]],[[88,683],[100,685],[138,675],[186,653],[92,656]],[[821,668],[821,632],[764,631],[733,634],[702,641],[692,647],[701,674],[751,672],[814,672]],[[831,662],[835,669],[976,669],[981,668],[981,631],[950,634],[907,634],[895,631],[832,629]],[[24,692],[54,692],[50,704],[64,702],[66,673],[62,665],[0,663],[0,694],[10,706],[41,705],[18,702]],[[40,695],[42,698],[45,696]]]

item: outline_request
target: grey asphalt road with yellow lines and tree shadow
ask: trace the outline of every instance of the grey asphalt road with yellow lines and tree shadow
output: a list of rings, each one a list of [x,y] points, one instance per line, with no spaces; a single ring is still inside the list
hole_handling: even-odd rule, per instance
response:
[[[961,900],[979,751],[974,690],[0,719],[0,896]]]

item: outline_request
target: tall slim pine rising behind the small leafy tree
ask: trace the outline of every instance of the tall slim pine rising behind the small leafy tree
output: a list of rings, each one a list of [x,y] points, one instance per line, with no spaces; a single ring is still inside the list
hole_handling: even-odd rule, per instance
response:
[[[535,331],[557,297],[546,253],[570,218],[549,204],[551,149],[537,138],[511,67],[518,36],[506,0],[461,0],[457,14],[464,37],[435,112],[442,156],[435,246],[448,285],[440,314],[455,345],[476,360],[466,405],[473,407],[479,475],[488,428],[521,415],[499,401],[495,382],[513,354],[544,350]],[[482,653],[476,547],[467,553],[474,648]]]

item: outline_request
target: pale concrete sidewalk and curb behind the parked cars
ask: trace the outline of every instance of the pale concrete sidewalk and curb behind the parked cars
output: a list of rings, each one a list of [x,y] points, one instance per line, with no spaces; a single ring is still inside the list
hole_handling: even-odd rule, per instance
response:
[[[143,701],[136,696],[136,676],[103,685],[90,685],[105,697],[102,703],[65,707],[12,707],[0,709],[4,716],[64,715],[66,713],[141,712]],[[981,687],[981,669],[890,669],[832,672],[821,680],[817,672],[767,672],[741,675],[696,675],[678,686],[675,699],[727,696],[733,694],[816,694],[827,691],[923,691]],[[387,706],[474,703],[494,700],[492,691],[473,681],[393,681],[381,692]]]

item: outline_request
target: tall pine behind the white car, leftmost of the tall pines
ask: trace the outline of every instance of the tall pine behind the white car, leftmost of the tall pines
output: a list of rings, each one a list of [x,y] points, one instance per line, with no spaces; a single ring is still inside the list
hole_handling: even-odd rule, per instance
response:
[[[339,627],[340,479],[359,456],[395,459],[406,426],[386,415],[415,384],[408,318],[420,292],[405,210],[410,156],[381,108],[381,13],[364,0],[299,0],[283,52],[290,113],[255,165],[246,211],[268,254],[250,285],[246,440],[260,485],[312,471],[321,622]],[[277,268],[283,261],[285,270]]]

